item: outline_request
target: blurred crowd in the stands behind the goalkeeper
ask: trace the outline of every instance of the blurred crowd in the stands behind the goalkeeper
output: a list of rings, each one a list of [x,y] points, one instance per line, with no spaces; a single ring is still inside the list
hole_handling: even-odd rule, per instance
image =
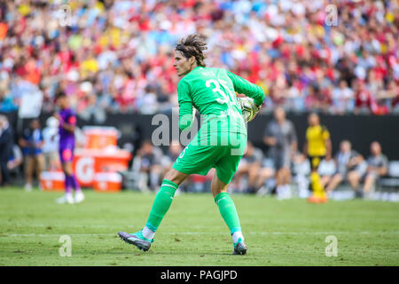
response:
[[[269,94],[262,111],[399,112],[398,28],[388,0],[2,1],[0,112],[32,91],[51,112],[59,89],[98,122],[168,112],[174,46],[195,32],[207,36],[207,66]]]

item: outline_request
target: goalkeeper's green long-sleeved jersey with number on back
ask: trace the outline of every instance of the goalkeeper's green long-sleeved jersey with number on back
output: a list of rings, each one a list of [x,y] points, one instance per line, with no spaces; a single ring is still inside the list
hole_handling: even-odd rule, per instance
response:
[[[202,116],[201,130],[207,133],[236,132],[246,134],[246,125],[236,92],[254,99],[262,105],[264,92],[261,87],[221,68],[195,67],[178,83],[179,127],[192,127],[193,109]]]

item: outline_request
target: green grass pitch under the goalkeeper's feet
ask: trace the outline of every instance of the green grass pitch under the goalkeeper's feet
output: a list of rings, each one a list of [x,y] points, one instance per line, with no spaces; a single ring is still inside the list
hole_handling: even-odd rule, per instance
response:
[[[145,224],[153,193],[85,191],[81,204],[61,193],[0,190],[0,265],[399,265],[399,204],[233,195],[248,254],[232,256],[231,236],[210,193],[179,194],[148,252],[118,231]],[[59,256],[69,235],[72,256]],[[338,240],[338,256],[325,256]]]

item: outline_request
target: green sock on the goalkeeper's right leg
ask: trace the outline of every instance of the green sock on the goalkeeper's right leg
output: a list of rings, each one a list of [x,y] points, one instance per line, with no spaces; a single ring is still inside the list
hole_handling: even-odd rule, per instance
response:
[[[220,214],[223,217],[224,222],[230,229],[230,233],[241,231],[239,225],[239,215],[237,214],[234,202],[231,200],[229,193],[219,193],[215,196],[215,202],[219,207]]]

